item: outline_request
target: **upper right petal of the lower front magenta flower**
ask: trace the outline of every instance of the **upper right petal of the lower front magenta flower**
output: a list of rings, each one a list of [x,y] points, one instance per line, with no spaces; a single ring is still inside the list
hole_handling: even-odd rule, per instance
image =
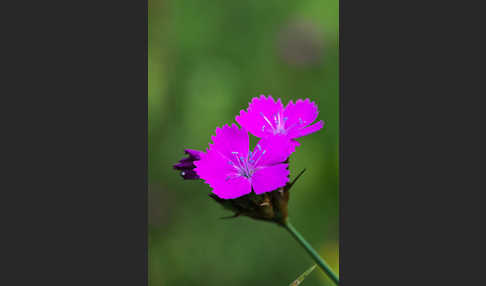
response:
[[[290,141],[285,135],[269,136],[261,139],[253,150],[257,166],[282,163],[292,154],[298,142]]]

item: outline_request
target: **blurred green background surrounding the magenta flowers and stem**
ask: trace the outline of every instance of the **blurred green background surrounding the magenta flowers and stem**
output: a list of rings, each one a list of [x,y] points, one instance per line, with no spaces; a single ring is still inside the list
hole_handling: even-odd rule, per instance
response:
[[[254,96],[314,100],[324,128],[300,139],[294,226],[338,271],[338,0],[149,0],[149,283],[289,285],[313,261],[276,225],[231,213],[172,165],[204,150]],[[317,268],[302,285],[332,285]]]

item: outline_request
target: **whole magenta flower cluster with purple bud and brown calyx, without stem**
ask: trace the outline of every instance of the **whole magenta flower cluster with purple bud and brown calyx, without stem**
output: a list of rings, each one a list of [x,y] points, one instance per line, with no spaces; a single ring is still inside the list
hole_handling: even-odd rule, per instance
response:
[[[188,158],[174,165],[184,179],[202,179],[211,197],[236,215],[281,221],[286,217],[288,158],[299,137],[320,130],[317,105],[309,99],[284,106],[272,96],[255,97],[235,117],[236,124],[216,128],[205,152],[185,150]],[[249,134],[260,140],[253,150]]]

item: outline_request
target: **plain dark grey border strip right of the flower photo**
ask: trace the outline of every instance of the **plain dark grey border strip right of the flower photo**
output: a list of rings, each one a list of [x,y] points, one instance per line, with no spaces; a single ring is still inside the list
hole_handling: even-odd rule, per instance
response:
[[[340,0],[342,285],[481,284],[464,229],[484,224],[464,217],[483,201],[467,191],[484,189],[469,162],[484,153],[470,137],[484,129],[479,11]]]

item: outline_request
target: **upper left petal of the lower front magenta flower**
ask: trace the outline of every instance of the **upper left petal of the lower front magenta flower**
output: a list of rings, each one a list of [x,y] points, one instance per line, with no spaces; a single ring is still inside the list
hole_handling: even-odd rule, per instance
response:
[[[250,148],[250,139],[245,129],[239,129],[236,124],[231,127],[224,125],[223,128],[216,128],[216,135],[212,136],[213,144],[209,145],[211,150],[221,153],[224,157],[233,160],[236,163],[238,157],[248,155]],[[238,154],[235,154],[237,152]]]

